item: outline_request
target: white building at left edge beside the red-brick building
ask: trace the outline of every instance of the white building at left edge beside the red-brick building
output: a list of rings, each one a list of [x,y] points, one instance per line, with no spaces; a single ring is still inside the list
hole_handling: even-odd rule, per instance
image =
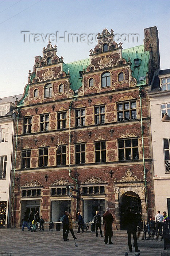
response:
[[[21,97],[22,94],[0,98],[0,227],[7,227],[8,223],[13,137],[11,114],[15,108],[16,98]]]

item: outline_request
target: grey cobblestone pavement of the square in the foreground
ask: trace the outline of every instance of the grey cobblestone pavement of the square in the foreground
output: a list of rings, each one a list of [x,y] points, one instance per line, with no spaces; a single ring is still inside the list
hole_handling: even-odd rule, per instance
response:
[[[32,255],[125,255],[128,252],[126,231],[113,231],[113,245],[104,244],[104,237],[96,237],[93,232],[77,234],[75,246],[72,234],[69,233],[69,241],[63,241],[62,231],[39,231],[28,232],[24,229],[0,229],[0,253],[11,252],[12,256],[32,256]],[[163,248],[139,248],[140,255],[160,256]],[[169,250],[168,250],[169,251]],[[135,255],[134,248],[128,252],[129,256]]]

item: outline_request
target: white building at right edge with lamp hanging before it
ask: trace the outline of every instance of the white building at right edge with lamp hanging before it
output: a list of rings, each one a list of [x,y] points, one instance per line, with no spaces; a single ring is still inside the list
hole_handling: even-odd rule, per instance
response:
[[[159,71],[148,94],[150,99],[156,211],[170,215],[170,69]],[[170,118],[169,118],[170,119]]]

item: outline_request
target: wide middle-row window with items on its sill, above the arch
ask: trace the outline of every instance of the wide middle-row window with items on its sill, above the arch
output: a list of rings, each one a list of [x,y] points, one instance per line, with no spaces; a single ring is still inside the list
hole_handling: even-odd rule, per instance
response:
[[[118,140],[119,160],[138,159],[138,139]]]

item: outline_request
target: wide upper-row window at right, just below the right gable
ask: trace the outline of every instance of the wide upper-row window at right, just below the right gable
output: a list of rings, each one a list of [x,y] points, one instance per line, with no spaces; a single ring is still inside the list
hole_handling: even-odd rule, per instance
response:
[[[117,121],[136,118],[136,101],[117,103]]]

